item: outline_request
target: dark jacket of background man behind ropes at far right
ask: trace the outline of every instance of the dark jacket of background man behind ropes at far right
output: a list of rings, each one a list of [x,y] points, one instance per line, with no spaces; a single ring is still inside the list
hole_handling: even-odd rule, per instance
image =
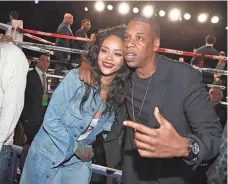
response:
[[[219,52],[211,47],[204,45],[196,50],[196,53],[201,53],[201,54],[210,54],[210,55],[219,55]],[[204,57],[193,57],[191,60],[192,65],[200,66],[200,62],[203,61],[204,65],[203,68],[216,68],[217,66],[217,60],[215,59],[210,59],[210,58],[204,58]],[[203,72],[203,82],[205,84],[212,84],[214,81],[213,74]]]

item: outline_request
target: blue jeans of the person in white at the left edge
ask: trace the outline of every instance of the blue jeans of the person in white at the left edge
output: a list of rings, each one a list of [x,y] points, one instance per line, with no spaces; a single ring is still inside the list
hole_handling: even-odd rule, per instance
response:
[[[11,146],[3,146],[0,152],[0,184],[5,184],[8,163],[10,160]]]

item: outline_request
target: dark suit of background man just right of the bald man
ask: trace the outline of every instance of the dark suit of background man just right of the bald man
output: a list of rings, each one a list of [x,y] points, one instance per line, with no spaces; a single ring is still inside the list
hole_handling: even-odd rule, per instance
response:
[[[74,36],[76,37],[82,37],[82,38],[87,38],[87,34],[83,29],[78,29],[75,33]],[[74,49],[80,49],[80,50],[86,50],[88,48],[87,46],[88,42],[85,41],[72,41],[72,48]],[[80,64],[82,61],[82,56],[80,54],[72,54],[71,55],[71,62]]]

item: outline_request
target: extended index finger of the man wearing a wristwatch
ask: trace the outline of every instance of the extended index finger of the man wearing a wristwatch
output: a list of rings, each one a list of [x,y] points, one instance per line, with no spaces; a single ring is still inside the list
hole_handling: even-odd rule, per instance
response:
[[[141,132],[146,135],[154,135],[154,129],[147,126],[135,123],[133,121],[124,121],[123,124],[127,127],[133,128],[135,131]]]

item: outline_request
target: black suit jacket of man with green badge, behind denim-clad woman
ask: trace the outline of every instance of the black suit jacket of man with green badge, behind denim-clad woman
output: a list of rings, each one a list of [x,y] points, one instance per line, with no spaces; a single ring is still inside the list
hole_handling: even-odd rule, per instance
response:
[[[37,71],[28,72],[25,90],[25,104],[21,115],[27,143],[30,144],[43,123],[46,107],[42,106],[43,86]]]

